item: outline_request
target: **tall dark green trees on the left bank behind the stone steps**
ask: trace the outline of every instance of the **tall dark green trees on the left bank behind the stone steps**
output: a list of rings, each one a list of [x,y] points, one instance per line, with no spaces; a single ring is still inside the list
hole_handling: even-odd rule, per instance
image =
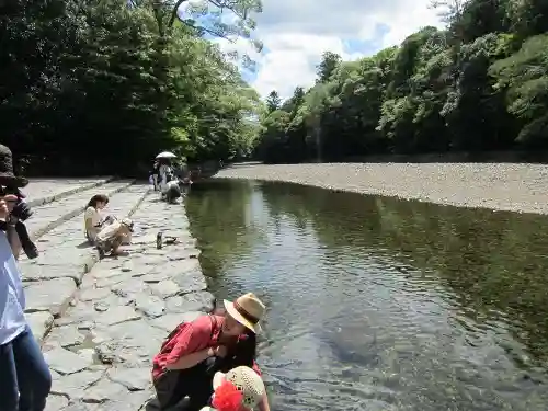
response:
[[[212,39],[260,49],[261,2],[186,3],[0,2],[0,142],[20,172],[129,175],[162,150],[189,162],[252,152],[263,103],[238,70],[252,61]]]

